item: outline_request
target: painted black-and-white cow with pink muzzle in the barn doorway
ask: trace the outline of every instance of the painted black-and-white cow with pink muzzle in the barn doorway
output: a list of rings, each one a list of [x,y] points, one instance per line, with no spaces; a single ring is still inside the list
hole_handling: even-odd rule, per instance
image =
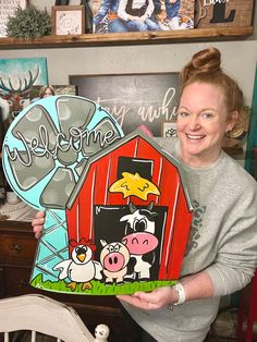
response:
[[[123,216],[120,221],[125,221],[125,236],[122,242],[126,244],[131,260],[133,260],[133,271],[126,276],[126,281],[134,281],[136,277],[139,281],[147,281],[150,278],[150,268],[155,262],[154,251],[158,246],[158,239],[155,236],[157,212],[151,211],[154,203],[146,209],[137,209],[130,203],[131,213]]]

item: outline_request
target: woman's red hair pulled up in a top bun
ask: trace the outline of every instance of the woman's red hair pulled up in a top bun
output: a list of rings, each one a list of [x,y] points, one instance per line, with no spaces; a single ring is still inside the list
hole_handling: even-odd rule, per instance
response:
[[[223,91],[228,113],[244,111],[243,91],[237,83],[221,69],[221,53],[217,48],[200,50],[180,72],[181,93],[189,84],[199,82],[215,85]]]

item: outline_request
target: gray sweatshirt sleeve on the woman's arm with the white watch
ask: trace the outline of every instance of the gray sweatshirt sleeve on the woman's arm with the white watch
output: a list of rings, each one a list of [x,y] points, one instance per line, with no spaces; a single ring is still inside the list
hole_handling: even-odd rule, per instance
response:
[[[244,197],[235,198],[228,217],[223,218],[225,233],[219,243],[215,262],[206,268],[215,296],[243,289],[257,267],[257,183],[245,188]],[[232,207],[233,206],[233,207]]]

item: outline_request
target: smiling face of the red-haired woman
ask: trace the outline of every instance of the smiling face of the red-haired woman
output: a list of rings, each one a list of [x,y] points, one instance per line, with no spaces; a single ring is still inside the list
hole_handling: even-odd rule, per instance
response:
[[[176,130],[185,163],[204,167],[216,161],[224,134],[232,126],[220,88],[208,83],[193,83],[184,88]]]

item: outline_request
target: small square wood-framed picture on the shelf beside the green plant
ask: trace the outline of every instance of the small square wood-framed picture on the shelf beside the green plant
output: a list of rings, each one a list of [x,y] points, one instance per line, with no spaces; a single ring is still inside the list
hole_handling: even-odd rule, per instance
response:
[[[85,33],[84,5],[52,7],[53,33],[62,35],[83,35]]]

